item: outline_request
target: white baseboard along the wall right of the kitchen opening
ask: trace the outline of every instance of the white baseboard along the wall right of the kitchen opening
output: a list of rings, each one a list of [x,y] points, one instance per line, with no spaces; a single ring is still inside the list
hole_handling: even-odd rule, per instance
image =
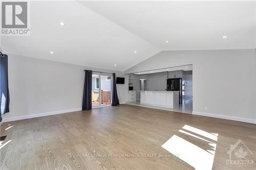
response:
[[[251,119],[251,118],[227,116],[227,115],[222,115],[222,114],[212,114],[212,113],[197,112],[197,111],[193,111],[192,114],[207,116],[207,117],[223,118],[223,119],[228,119],[228,120],[235,120],[235,121],[239,121],[239,122],[246,122],[246,123],[256,124],[256,119]]]

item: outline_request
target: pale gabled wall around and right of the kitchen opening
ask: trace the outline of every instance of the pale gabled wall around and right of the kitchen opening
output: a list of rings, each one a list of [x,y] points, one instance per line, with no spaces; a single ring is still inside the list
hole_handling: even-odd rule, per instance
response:
[[[193,113],[256,123],[255,60],[254,49],[164,51],[125,73],[193,64]]]

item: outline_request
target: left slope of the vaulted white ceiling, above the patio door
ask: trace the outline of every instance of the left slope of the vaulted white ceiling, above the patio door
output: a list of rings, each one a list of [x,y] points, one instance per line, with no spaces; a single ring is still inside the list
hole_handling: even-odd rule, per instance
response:
[[[161,51],[75,1],[30,6],[30,36],[2,36],[4,53],[123,71]]]

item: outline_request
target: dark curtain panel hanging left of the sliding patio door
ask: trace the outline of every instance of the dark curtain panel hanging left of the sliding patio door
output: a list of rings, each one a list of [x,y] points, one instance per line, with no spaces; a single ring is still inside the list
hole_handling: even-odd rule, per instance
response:
[[[82,110],[92,109],[92,70],[84,70]]]

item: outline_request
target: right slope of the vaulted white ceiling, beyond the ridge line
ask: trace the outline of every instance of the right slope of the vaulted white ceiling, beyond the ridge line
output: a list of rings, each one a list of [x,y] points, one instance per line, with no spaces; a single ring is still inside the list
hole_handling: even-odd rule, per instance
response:
[[[80,3],[161,50],[255,48],[255,1]]]

